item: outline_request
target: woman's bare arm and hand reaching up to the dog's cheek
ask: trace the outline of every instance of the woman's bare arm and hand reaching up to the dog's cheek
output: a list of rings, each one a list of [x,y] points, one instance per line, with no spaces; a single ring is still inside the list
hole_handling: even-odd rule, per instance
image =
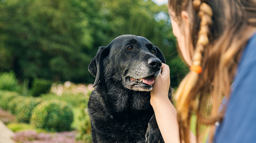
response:
[[[170,87],[169,66],[162,63],[162,73],[153,84],[150,91],[150,104],[152,105],[157,124],[165,143],[180,143],[179,124],[177,111],[169,101],[168,91]],[[196,143],[196,137],[190,132],[190,141]]]

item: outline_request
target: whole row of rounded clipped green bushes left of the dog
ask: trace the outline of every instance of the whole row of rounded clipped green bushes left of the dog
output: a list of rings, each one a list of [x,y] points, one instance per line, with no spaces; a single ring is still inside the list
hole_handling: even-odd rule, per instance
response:
[[[35,128],[55,132],[71,130],[72,106],[64,101],[43,101],[40,97],[0,90],[0,107],[15,114],[18,122],[31,122]]]

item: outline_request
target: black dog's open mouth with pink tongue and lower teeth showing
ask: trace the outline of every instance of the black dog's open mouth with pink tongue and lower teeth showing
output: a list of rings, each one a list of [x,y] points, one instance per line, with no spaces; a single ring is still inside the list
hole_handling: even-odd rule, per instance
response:
[[[155,77],[152,76],[148,76],[145,78],[140,78],[140,79],[135,79],[132,77],[128,77],[126,82],[130,85],[130,86],[146,86],[146,87],[152,87],[153,83],[155,82]]]

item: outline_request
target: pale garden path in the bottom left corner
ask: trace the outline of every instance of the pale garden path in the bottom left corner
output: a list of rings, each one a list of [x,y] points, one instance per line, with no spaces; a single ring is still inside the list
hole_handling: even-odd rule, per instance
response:
[[[0,143],[15,143],[11,136],[14,133],[0,120]]]

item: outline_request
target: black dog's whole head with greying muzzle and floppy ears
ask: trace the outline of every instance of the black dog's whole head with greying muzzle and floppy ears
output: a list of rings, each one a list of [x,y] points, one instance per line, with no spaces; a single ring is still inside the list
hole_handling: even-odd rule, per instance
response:
[[[144,37],[122,35],[108,46],[99,47],[88,69],[96,77],[94,86],[105,81],[120,81],[125,88],[150,91],[161,73],[164,56]],[[106,80],[107,79],[107,80]]]

